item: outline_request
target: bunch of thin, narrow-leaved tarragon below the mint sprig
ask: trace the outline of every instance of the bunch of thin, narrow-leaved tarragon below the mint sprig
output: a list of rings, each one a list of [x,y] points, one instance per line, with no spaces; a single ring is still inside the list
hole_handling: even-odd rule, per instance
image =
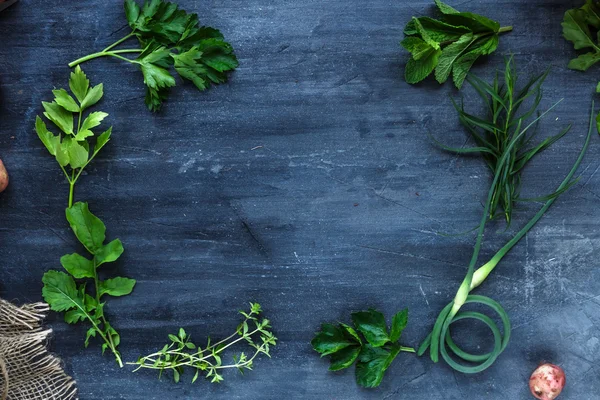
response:
[[[470,138],[476,144],[471,148],[452,148],[438,141],[440,147],[456,153],[478,153],[489,167],[492,176],[500,172],[498,181],[493,185],[492,201],[489,207],[489,218],[504,217],[510,225],[514,205],[520,201],[545,201],[558,195],[552,193],[545,197],[524,199],[520,196],[521,174],[525,166],[537,154],[562,138],[570,129],[566,126],[556,135],[550,136],[539,143],[533,143],[538,133],[528,121],[539,114],[538,107],[542,100],[542,84],[548,75],[546,72],[532,77],[522,88],[517,89],[517,73],[514,60],[506,61],[503,82],[496,74],[491,84],[484,82],[474,75],[469,75],[467,82],[475,89],[484,104],[485,114],[476,116],[465,111],[464,103],[452,103],[458,112],[461,124],[466,128]],[[527,104],[528,99],[531,104]],[[560,101],[555,103],[556,106]],[[525,104],[527,104],[525,106]],[[545,114],[545,113],[544,113]],[[541,115],[543,116],[543,115]],[[535,128],[537,128],[536,119]],[[523,127],[527,128],[523,129]],[[511,151],[506,151],[512,139],[519,136]],[[435,139],[434,139],[435,140]],[[507,154],[505,163],[500,158]],[[563,189],[568,189],[568,186]]]

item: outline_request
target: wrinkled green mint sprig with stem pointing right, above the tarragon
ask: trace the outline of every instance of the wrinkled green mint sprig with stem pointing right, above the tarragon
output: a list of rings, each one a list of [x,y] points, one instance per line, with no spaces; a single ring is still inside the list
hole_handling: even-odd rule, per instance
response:
[[[450,75],[460,88],[481,55],[498,47],[498,35],[512,30],[482,15],[459,12],[440,0],[435,3],[442,19],[413,17],[404,28],[402,47],[411,53],[406,63],[404,79],[417,83],[435,71],[435,78],[444,83]]]

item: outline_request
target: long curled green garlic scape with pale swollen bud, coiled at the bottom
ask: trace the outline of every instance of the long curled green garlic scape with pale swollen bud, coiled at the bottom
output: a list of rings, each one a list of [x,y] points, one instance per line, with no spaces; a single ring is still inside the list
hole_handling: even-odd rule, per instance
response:
[[[494,93],[497,94],[497,92]],[[506,101],[503,101],[503,103],[506,105]],[[511,160],[514,160],[513,154],[518,151],[519,146],[523,143],[523,138],[526,137],[528,130],[548,111],[542,113],[540,116],[538,116],[525,127],[521,127],[521,124],[517,123],[516,127],[514,128],[516,129],[516,133],[514,133],[506,139],[507,143],[503,145],[502,153],[499,154],[499,157],[495,163],[495,168],[493,169],[495,171],[494,178],[490,190],[488,192],[487,201],[485,202],[483,215],[477,232],[477,239],[473,249],[473,255],[471,257],[471,261],[467,270],[467,275],[465,276],[465,279],[460,285],[460,288],[458,289],[454,300],[446,307],[444,307],[444,309],[440,312],[437,320],[435,321],[432,332],[426,337],[424,342],[419,347],[417,352],[418,355],[423,355],[427,350],[429,350],[431,360],[433,362],[438,362],[439,355],[441,353],[444,361],[446,361],[446,363],[448,363],[448,365],[450,365],[453,369],[463,373],[477,373],[490,367],[508,345],[508,341],[510,339],[511,326],[510,319],[504,308],[502,308],[502,306],[498,302],[489,297],[474,295],[471,294],[471,292],[483,283],[483,281],[498,265],[500,260],[502,260],[502,257],[504,257],[504,255],[506,255],[506,253],[508,253],[508,251],[515,244],[517,244],[519,240],[523,236],[525,236],[525,234],[539,221],[539,219],[552,205],[554,200],[556,200],[558,195],[564,192],[570,185],[573,184],[573,175],[575,174],[575,171],[581,164],[581,161],[587,150],[592,134],[594,122],[593,102],[592,114],[590,115],[590,125],[587,137],[585,139],[585,143],[571,170],[556,189],[556,195],[550,196],[550,198],[548,198],[545,201],[542,208],[533,216],[533,218],[531,218],[531,220],[519,232],[517,232],[517,234],[506,245],[504,245],[504,247],[502,247],[491,258],[490,261],[488,261],[480,268],[475,270],[475,264],[477,263],[477,259],[479,256],[485,225],[488,221],[488,213],[494,202],[494,194],[496,191],[497,184],[503,179],[503,177],[506,174],[512,171]],[[499,329],[494,320],[492,320],[487,315],[474,311],[462,311],[462,307],[465,304],[480,304],[491,308],[492,311],[494,311],[502,321],[502,331]],[[471,354],[462,350],[454,342],[450,331],[450,325],[456,321],[463,319],[475,319],[483,322],[490,328],[494,337],[494,345],[491,352],[485,354]],[[451,353],[453,354],[453,356],[451,355]],[[456,359],[458,359],[459,361],[456,361]]]

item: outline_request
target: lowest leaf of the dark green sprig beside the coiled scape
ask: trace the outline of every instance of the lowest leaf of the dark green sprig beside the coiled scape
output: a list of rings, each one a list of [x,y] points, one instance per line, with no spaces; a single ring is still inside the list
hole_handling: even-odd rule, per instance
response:
[[[400,346],[392,346],[390,350],[365,345],[356,363],[356,383],[366,388],[381,384],[385,371],[400,353]]]

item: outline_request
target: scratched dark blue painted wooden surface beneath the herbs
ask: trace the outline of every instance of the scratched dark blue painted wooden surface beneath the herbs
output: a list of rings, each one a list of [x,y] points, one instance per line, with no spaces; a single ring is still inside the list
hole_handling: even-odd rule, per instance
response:
[[[450,85],[403,81],[398,46],[412,15],[430,1],[180,0],[230,40],[240,68],[206,93],[179,85],[159,114],[143,104],[141,74],[118,60],[84,65],[104,82],[100,109],[113,141],[78,184],[76,199],[119,237],[126,253],[107,272],[138,280],[107,313],[126,360],[162,346],[179,326],[196,338],[228,334],[248,301],[263,305],[280,344],[245,376],[220,385],[159,381],[119,370],[99,345],[83,348],[85,326],[56,314],[50,348],[77,379],[82,399],[526,399],[543,360],[567,372],[564,399],[600,399],[600,143],[580,183],[553,206],[478,293],[509,312],[512,340],[476,375],[401,355],[380,388],[353,372],[327,372],[309,341],[321,322],[376,307],[410,308],[403,342],[418,345],[452,298],[470,257],[489,174],[477,158],[436,150],[427,131],[462,145]],[[563,98],[542,134],[572,131],[526,171],[527,195],[552,190],[587,129],[598,68],[566,69],[559,0],[452,3],[514,32],[476,65],[484,77],[515,54],[523,75],[552,66],[544,106]],[[0,14],[0,157],[11,174],[0,195],[0,296],[41,300],[41,277],[78,249],[64,218],[67,185],[33,132],[41,101],[65,87],[67,62],[121,37],[121,2],[21,0]],[[473,93],[463,91],[476,107]],[[470,103],[469,103],[470,101]],[[515,227],[536,209],[523,207]],[[509,237],[490,227],[483,256]],[[484,351],[483,326],[456,329]],[[189,379],[189,377],[188,377]]]

